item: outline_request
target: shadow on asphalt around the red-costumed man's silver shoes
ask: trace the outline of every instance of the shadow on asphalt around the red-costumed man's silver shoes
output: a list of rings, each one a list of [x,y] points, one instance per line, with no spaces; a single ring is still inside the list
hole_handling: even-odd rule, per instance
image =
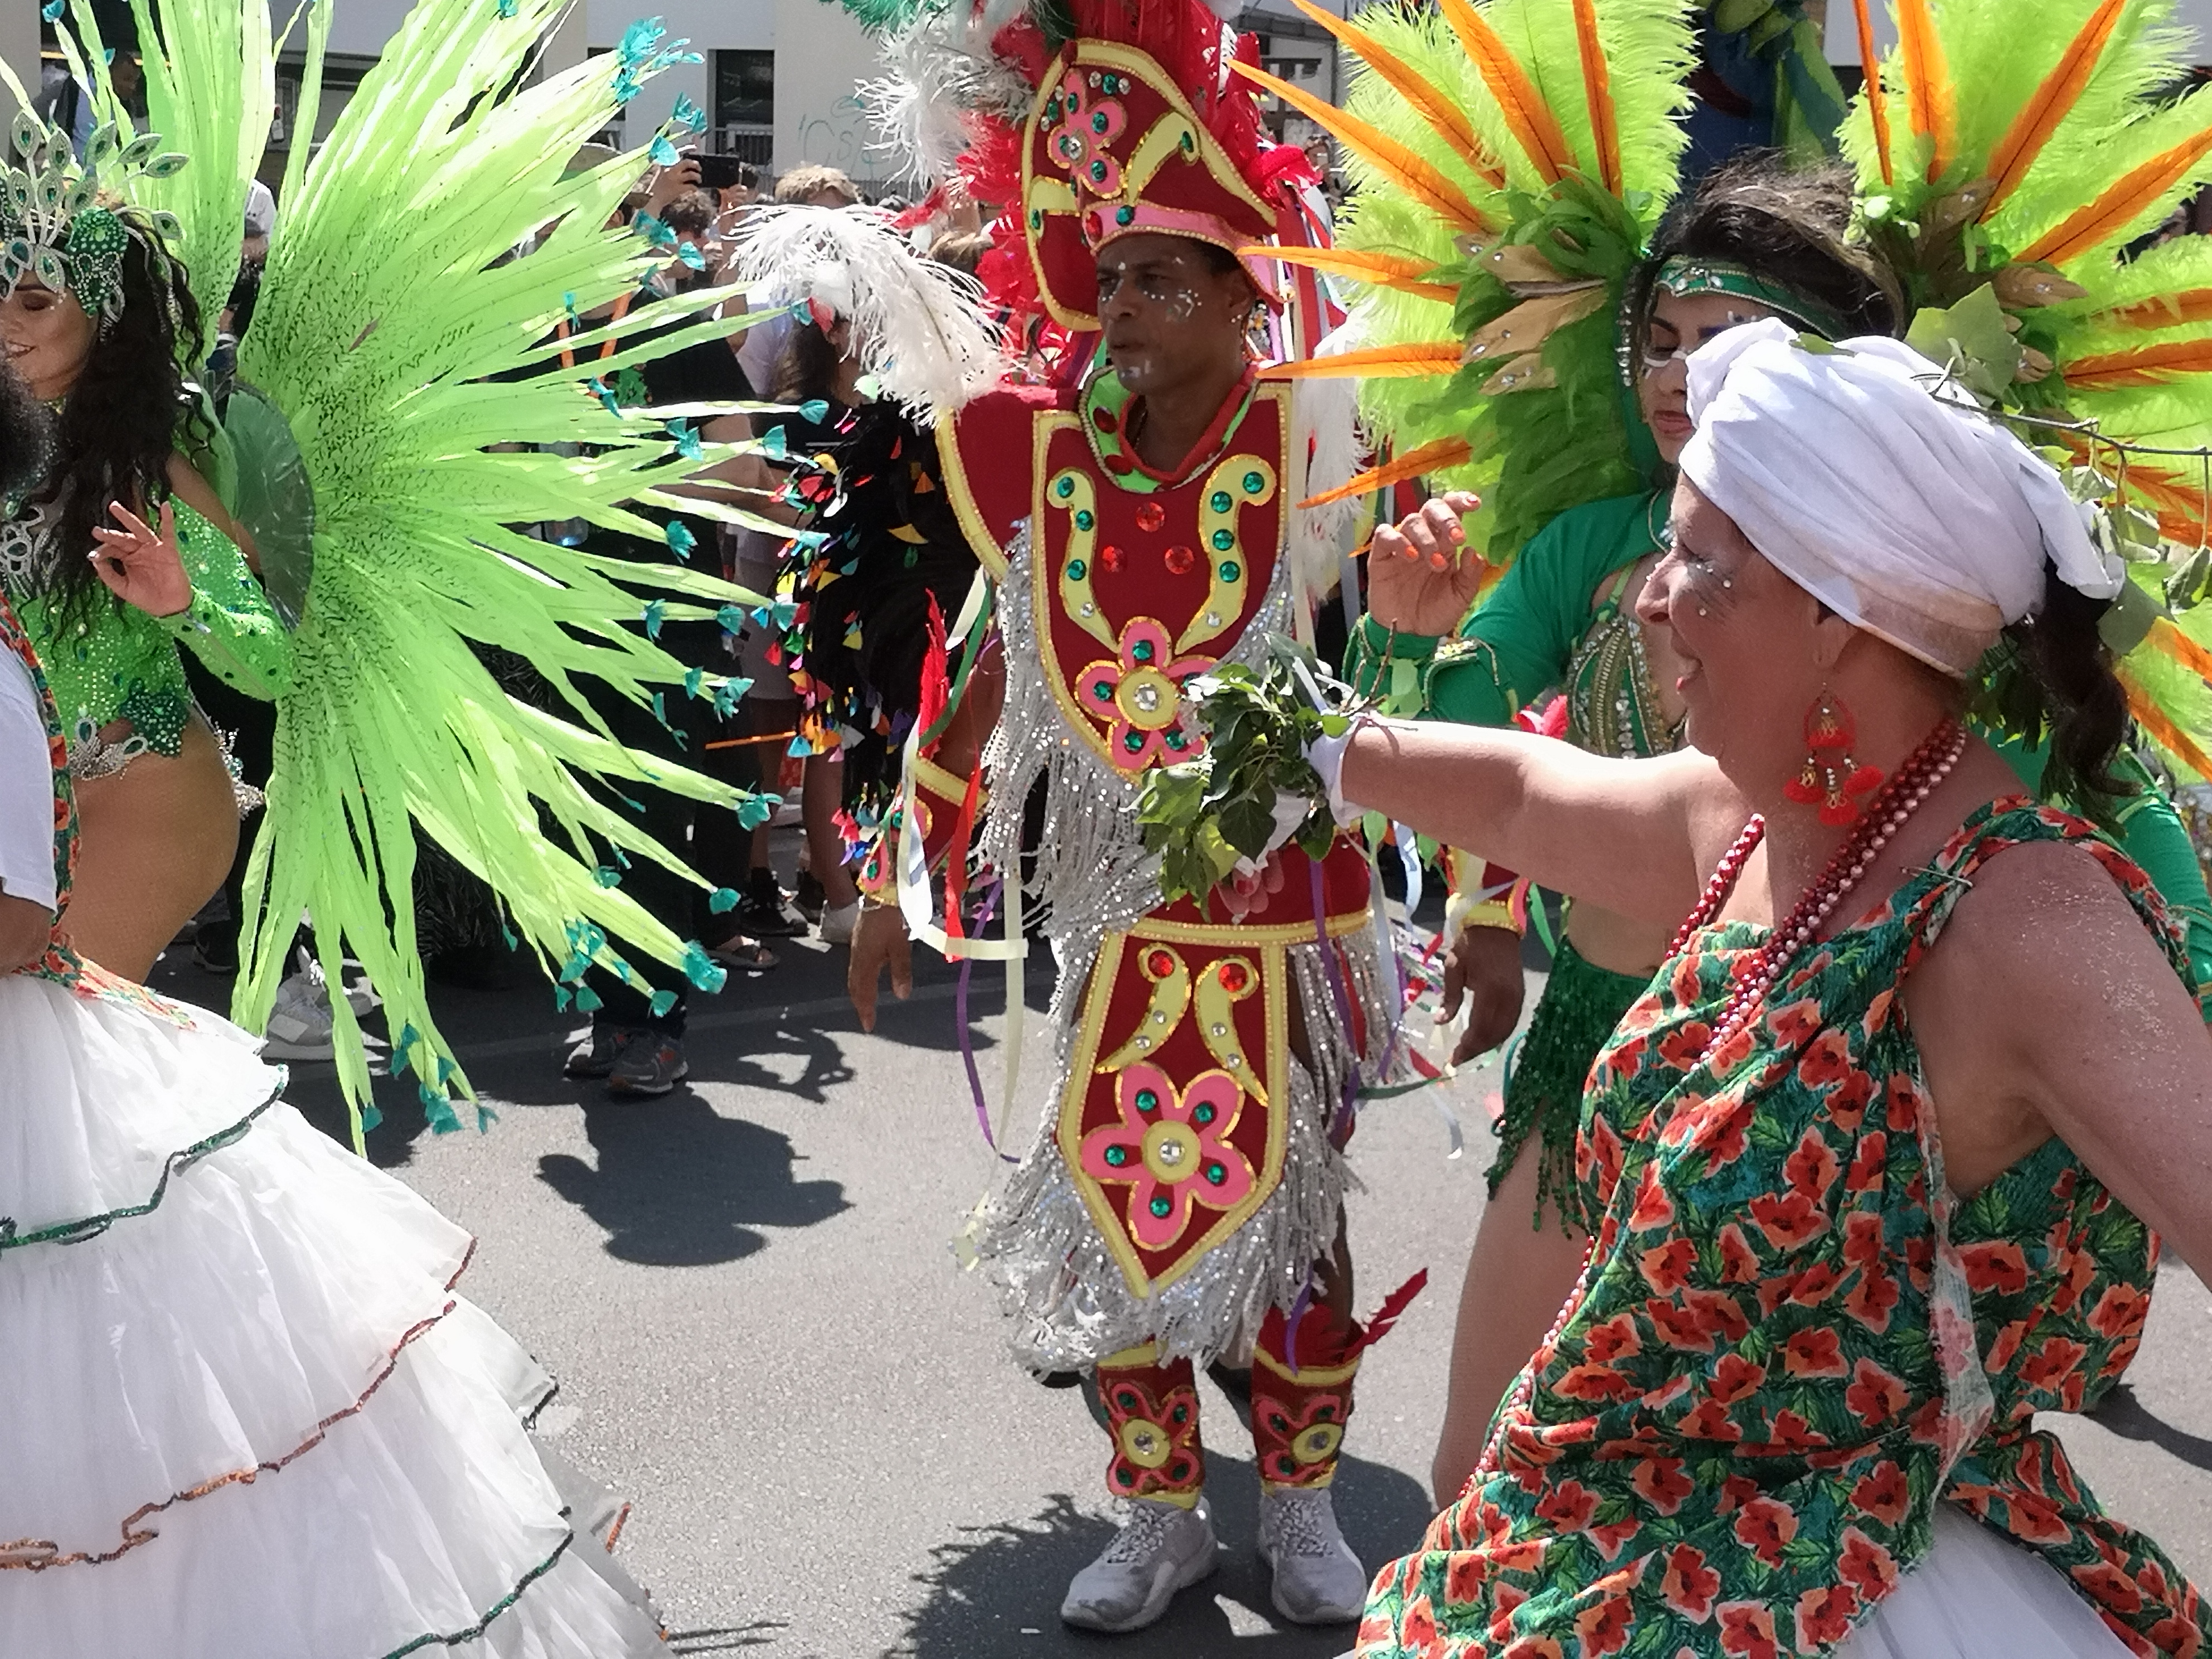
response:
[[[1046,1652],[1108,1650],[1119,1659],[1336,1659],[1349,1652],[1354,1626],[1290,1626],[1270,1606],[1267,1568],[1254,1551],[1259,1471],[1252,1462],[1208,1447],[1206,1473],[1214,1533],[1223,1546],[1221,1568],[1177,1595],[1152,1628],[1106,1637],[1060,1624],[1068,1579],[1106,1548],[1113,1522],[1082,1513],[1066,1493],[1053,1493],[1026,1522],[971,1526],[938,1544],[931,1568],[916,1575],[929,1593],[927,1601],[905,1615],[907,1635],[891,1652],[898,1659],[1037,1659]],[[1345,1458],[1334,1493],[1345,1540],[1367,1566],[1413,1548],[1429,1524],[1429,1495],[1383,1464]],[[1272,1628],[1254,1630],[1259,1624]]]

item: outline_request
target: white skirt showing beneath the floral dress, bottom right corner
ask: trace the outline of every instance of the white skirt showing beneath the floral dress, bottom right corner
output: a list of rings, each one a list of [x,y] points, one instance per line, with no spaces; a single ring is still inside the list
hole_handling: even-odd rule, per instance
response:
[[[1836,1659],[2128,1659],[2051,1562],[1936,1504],[1936,1546]]]

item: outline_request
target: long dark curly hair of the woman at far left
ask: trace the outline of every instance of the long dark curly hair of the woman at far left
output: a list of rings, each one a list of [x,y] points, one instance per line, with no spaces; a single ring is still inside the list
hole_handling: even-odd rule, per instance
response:
[[[113,204],[111,204],[113,206]],[[184,268],[161,252],[155,230],[128,208],[122,314],[95,319],[93,349],[62,403],[55,467],[31,502],[49,509],[46,560],[33,591],[64,617],[119,604],[86,557],[108,502],[142,511],[168,498],[168,458],[192,416],[181,363],[199,363],[206,338]]]

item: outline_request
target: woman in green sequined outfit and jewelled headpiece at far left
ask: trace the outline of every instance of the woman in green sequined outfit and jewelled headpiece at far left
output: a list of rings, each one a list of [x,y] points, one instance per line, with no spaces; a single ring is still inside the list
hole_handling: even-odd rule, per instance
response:
[[[285,688],[290,653],[248,535],[181,453],[181,365],[206,345],[201,314],[168,248],[175,219],[126,192],[184,157],[102,126],[80,166],[29,111],[11,142],[0,343],[60,431],[44,478],[7,504],[0,580],[71,739],[84,823],[71,933],[137,980],[239,838],[228,757],[192,708],[179,646],[257,697]]]

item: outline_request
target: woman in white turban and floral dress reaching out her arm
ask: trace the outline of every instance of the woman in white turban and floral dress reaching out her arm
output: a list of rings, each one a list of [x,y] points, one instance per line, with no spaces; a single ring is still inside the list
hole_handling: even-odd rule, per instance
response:
[[[2212,1267],[2212,1040],[2143,874],[1960,723],[2026,624],[2053,765],[2108,790],[2121,575],[1893,341],[1741,327],[1690,403],[1639,599],[1688,752],[1314,757],[1347,812],[1681,922],[1590,1073],[1590,1259],[1358,1652],[2197,1652],[2197,1590],[2033,1416],[2126,1369],[2154,1232]]]

